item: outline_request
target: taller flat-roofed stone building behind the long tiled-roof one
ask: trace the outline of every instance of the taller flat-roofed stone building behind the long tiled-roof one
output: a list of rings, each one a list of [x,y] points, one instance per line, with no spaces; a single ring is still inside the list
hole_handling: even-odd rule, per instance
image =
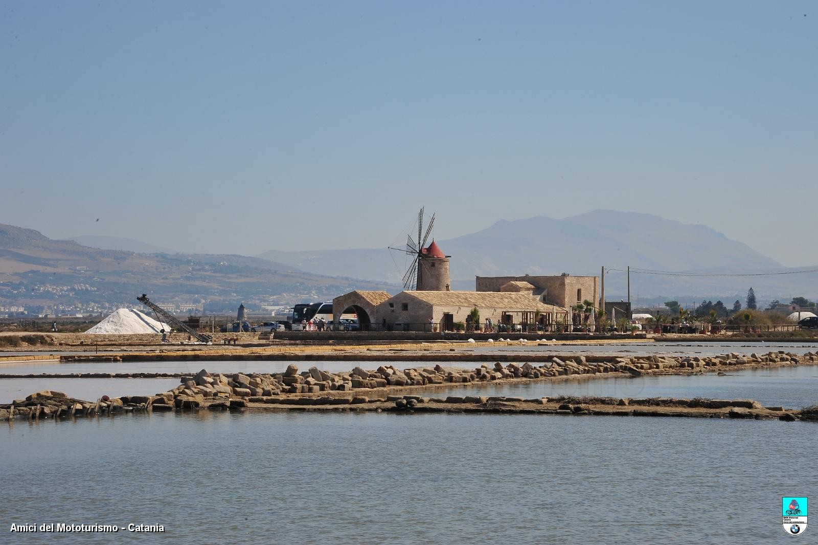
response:
[[[542,303],[553,304],[563,309],[570,309],[583,300],[590,300],[595,307],[600,304],[598,277],[573,277],[563,272],[558,277],[475,277],[476,291],[517,291],[528,292]]]

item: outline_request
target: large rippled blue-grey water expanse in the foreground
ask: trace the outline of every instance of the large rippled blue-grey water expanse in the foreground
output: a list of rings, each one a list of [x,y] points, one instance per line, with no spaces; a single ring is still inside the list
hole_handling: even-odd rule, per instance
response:
[[[818,485],[802,422],[202,411],[2,428],[16,519],[162,524],[183,545],[782,543],[780,498]]]

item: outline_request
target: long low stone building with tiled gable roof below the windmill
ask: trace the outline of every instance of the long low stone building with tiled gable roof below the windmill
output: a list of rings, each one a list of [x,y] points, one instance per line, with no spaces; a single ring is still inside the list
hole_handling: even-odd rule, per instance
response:
[[[487,318],[495,325],[543,328],[568,323],[567,311],[543,304],[526,293],[477,291],[402,291],[378,305],[381,330],[453,331],[457,322],[466,323],[472,309],[478,309],[482,327]]]

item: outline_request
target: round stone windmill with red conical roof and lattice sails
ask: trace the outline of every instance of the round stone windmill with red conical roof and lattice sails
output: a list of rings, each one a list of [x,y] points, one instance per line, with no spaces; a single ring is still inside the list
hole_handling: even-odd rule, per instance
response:
[[[423,209],[421,208],[417,218],[417,242],[413,241],[410,235],[407,237],[406,249],[389,247],[390,250],[402,251],[413,256],[407,272],[403,273],[404,290],[450,291],[451,289],[452,277],[449,273],[449,258],[452,256],[443,254],[443,250],[440,250],[440,246],[434,242],[434,239],[429,246],[426,246],[433,225],[434,214],[432,214],[429,225],[426,226],[426,232],[423,234]],[[423,234],[422,238],[421,234]]]

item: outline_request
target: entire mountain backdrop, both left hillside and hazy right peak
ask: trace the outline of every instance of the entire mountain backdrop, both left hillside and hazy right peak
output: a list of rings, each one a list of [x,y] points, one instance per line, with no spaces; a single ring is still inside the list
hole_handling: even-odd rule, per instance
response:
[[[0,224],[0,306],[133,305],[144,292],[160,304],[192,302],[210,312],[235,309],[242,302],[252,309],[331,300],[353,289],[397,293],[411,261],[386,248],[270,250],[247,257],[182,254],[110,236],[75,239],[85,245]],[[787,274],[807,267],[784,268],[709,227],[652,214],[596,210],[564,219],[501,220],[437,242],[452,255],[455,290],[473,290],[475,275],[599,276],[605,265],[605,295],[613,300],[627,295],[624,271],[630,265],[632,300],[691,297],[743,303],[751,286],[761,303],[797,295],[814,300],[818,295],[818,273]],[[714,276],[655,273],[659,271]],[[765,276],[719,276],[735,273]]]

